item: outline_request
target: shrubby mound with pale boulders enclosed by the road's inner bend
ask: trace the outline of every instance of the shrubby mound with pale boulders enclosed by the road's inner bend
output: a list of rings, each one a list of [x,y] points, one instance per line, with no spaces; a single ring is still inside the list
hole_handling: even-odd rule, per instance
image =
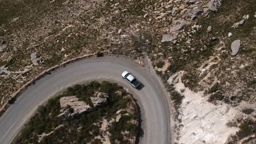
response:
[[[116,83],[76,85],[40,106],[13,143],[135,143],[138,116]]]

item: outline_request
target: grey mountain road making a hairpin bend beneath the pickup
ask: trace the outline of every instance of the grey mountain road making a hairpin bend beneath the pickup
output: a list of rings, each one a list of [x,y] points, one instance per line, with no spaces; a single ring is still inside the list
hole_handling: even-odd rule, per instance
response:
[[[130,71],[141,81],[141,90],[132,88],[121,78]],[[0,143],[10,143],[37,107],[63,89],[91,80],[108,80],[128,88],[138,100],[142,112],[143,136],[140,143],[170,143],[170,110],[166,93],[154,73],[138,67],[126,58],[107,56],[89,58],[57,69],[26,89],[0,117]]]

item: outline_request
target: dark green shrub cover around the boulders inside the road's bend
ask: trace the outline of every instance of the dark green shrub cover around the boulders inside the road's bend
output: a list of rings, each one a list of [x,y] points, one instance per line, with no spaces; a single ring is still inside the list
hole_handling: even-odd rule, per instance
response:
[[[88,103],[90,96],[96,91],[108,93],[109,98],[106,105],[93,107],[87,113],[82,113],[73,119],[57,117],[61,110],[61,97],[77,95],[79,99]],[[122,94],[118,95],[117,91],[121,91]],[[45,136],[40,143],[56,143],[58,141],[65,141],[65,143],[89,143],[95,136],[102,135],[100,124],[95,125],[95,123],[101,122],[103,117],[110,121],[118,110],[130,105],[132,99],[124,97],[126,94],[127,92],[123,87],[118,86],[117,83],[107,81],[102,83],[93,81],[87,83],[87,85],[69,87],[63,94],[48,100],[45,106],[39,106],[37,113],[25,125],[24,129],[20,131],[19,136],[13,143],[38,143],[38,135],[42,133],[48,134],[51,131],[54,131],[54,133]],[[66,109],[71,113],[74,111],[69,105],[67,105]],[[126,136],[136,136],[137,125],[129,121],[131,118],[137,119],[137,109],[135,109],[134,113],[130,113],[130,115],[122,116],[120,121],[118,123],[114,122],[110,128],[109,132],[112,143],[115,139],[118,139],[121,143],[129,143],[129,141],[123,140],[121,131],[129,131],[130,133],[126,134]],[[60,124],[63,124],[64,127],[55,129]],[[92,143],[100,143],[100,141],[94,140]]]

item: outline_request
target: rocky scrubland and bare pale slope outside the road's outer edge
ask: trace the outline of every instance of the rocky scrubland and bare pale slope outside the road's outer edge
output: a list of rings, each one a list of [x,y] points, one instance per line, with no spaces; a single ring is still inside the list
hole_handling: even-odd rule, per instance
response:
[[[177,143],[255,141],[254,0],[0,2],[0,106],[68,59],[105,50],[143,65],[147,54],[177,111]]]

